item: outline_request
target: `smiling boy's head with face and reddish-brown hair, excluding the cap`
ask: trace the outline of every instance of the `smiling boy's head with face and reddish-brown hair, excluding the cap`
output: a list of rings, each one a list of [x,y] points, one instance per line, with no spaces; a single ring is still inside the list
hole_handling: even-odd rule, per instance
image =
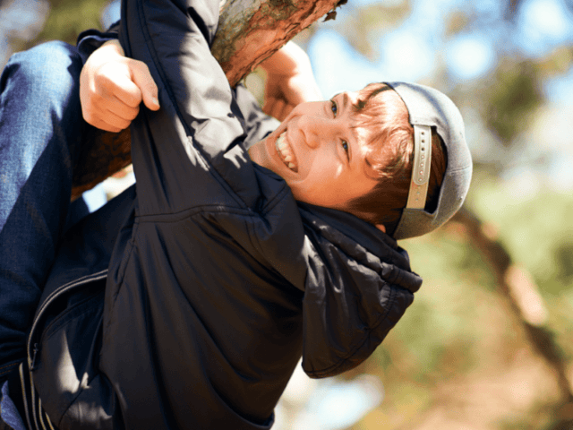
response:
[[[282,176],[297,201],[353,213],[394,235],[412,176],[414,130],[408,118],[396,91],[371,84],[298,105],[249,155]],[[443,143],[437,133],[432,136],[424,196],[430,206],[446,169]]]

